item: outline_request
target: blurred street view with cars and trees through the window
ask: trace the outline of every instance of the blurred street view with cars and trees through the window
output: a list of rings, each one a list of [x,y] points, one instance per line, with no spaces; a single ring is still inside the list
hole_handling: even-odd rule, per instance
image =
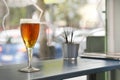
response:
[[[20,19],[38,19],[42,10],[41,29],[33,50],[33,61],[62,58],[64,31],[68,38],[73,31],[73,42],[80,44],[79,55],[84,52],[105,52],[106,1],[105,0],[5,0],[9,16],[3,28],[7,8],[0,0],[0,64],[21,63],[27,60],[26,48],[20,34]],[[5,29],[5,30],[4,30]],[[70,38],[69,38],[70,39]],[[100,43],[94,47],[96,43]],[[92,47],[92,48],[90,48]],[[97,48],[96,47],[102,47]]]

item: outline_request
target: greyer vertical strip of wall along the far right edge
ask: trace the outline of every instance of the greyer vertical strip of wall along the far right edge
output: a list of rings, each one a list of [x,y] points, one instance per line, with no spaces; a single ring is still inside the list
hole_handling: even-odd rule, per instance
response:
[[[115,52],[120,52],[120,0],[114,0],[114,36]]]

